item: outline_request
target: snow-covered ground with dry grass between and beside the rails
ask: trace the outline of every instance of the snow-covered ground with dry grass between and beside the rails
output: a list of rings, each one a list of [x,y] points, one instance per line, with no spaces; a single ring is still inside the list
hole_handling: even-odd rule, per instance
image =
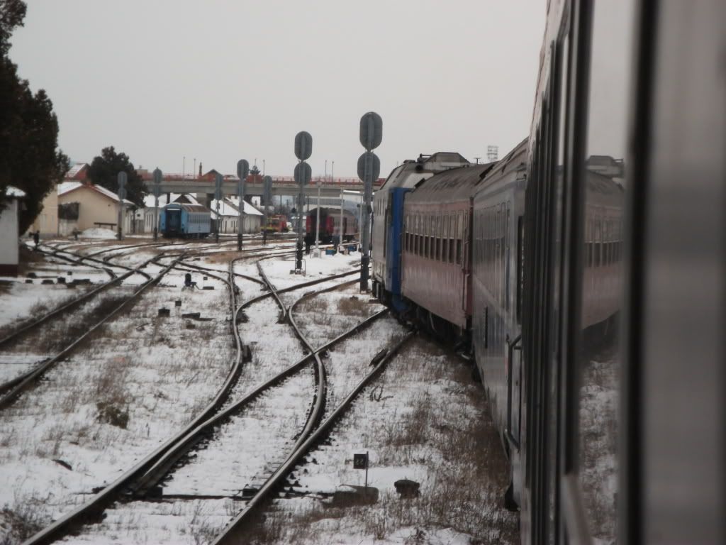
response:
[[[109,253],[121,254],[110,262],[129,265],[141,262],[141,255],[148,259],[153,250]],[[211,267],[226,278],[230,257],[236,252],[187,262]],[[352,270],[359,260],[357,253],[306,257],[304,276],[290,274],[292,257],[261,263],[270,281],[284,288]],[[147,272],[155,270],[160,266]],[[234,271],[258,278],[256,259],[237,262]],[[7,530],[18,517],[32,531],[86,501],[92,488],[133,466],[216,393],[234,359],[229,294],[211,275],[202,280],[205,273],[200,271],[192,273],[199,287],[204,283],[214,289],[182,289],[185,273],[167,275],[35,389],[0,411],[0,542],[4,537],[9,543],[20,541]],[[289,306],[303,294],[346,280],[325,280],[282,299]],[[234,281],[240,302],[264,293],[252,280]],[[0,299],[4,297],[0,291]],[[382,309],[369,299],[354,283],[303,299],[293,314],[318,347]],[[15,312],[21,307],[16,305]],[[160,307],[169,308],[171,315],[160,318]],[[202,320],[181,318],[182,312],[200,312]],[[245,310],[239,330],[253,360],[242,368],[228,405],[306,352],[290,324],[279,322],[280,315],[272,297]],[[367,374],[373,355],[405,331],[384,316],[325,354],[328,413]],[[289,483],[293,495],[274,501],[250,542],[514,543],[515,515],[500,507],[504,455],[481,386],[470,382],[469,371],[431,342],[415,339],[364,390],[330,440],[295,469]],[[208,543],[244,506],[232,496],[268,475],[294,442],[311,403],[312,385],[308,366],[219,426],[189,463],[168,475],[166,499],[115,504],[103,522],[63,541]],[[339,497],[351,491],[348,485],[363,485],[364,472],[352,467],[353,454],[360,452],[370,453],[369,485],[378,490],[372,504],[359,501],[360,496]],[[420,483],[420,496],[399,498],[393,482],[403,477]]]

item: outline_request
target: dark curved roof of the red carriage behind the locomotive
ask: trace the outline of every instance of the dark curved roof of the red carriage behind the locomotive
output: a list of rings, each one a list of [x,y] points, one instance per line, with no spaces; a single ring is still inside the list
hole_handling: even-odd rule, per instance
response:
[[[417,185],[406,200],[410,203],[463,201],[473,195],[476,186],[496,164],[470,164],[440,172]]]

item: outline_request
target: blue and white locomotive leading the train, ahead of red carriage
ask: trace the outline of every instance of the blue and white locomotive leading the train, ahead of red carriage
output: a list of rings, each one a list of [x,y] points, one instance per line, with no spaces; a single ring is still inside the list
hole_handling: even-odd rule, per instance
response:
[[[373,198],[373,294],[381,301],[404,310],[401,299],[401,240],[404,195],[437,172],[470,164],[459,153],[420,155],[396,166]]]

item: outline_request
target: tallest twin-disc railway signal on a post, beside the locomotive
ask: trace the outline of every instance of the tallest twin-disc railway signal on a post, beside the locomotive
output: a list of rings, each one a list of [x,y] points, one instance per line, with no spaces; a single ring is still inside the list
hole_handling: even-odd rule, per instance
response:
[[[371,150],[383,140],[383,120],[378,113],[364,113],[360,123],[360,142],[366,153],[358,158],[358,177],[363,180],[363,231],[361,233],[361,287],[368,291],[368,265],[370,264],[370,201],[373,196],[373,179],[380,174],[380,159]]]

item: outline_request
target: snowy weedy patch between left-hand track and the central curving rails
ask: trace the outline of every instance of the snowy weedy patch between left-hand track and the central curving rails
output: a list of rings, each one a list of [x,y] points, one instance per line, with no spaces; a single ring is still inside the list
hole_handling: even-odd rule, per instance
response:
[[[0,506],[37,504],[46,524],[208,403],[232,361],[228,294],[219,282],[213,291],[182,291],[183,281],[168,275],[0,412]],[[160,318],[160,307],[171,316]]]

